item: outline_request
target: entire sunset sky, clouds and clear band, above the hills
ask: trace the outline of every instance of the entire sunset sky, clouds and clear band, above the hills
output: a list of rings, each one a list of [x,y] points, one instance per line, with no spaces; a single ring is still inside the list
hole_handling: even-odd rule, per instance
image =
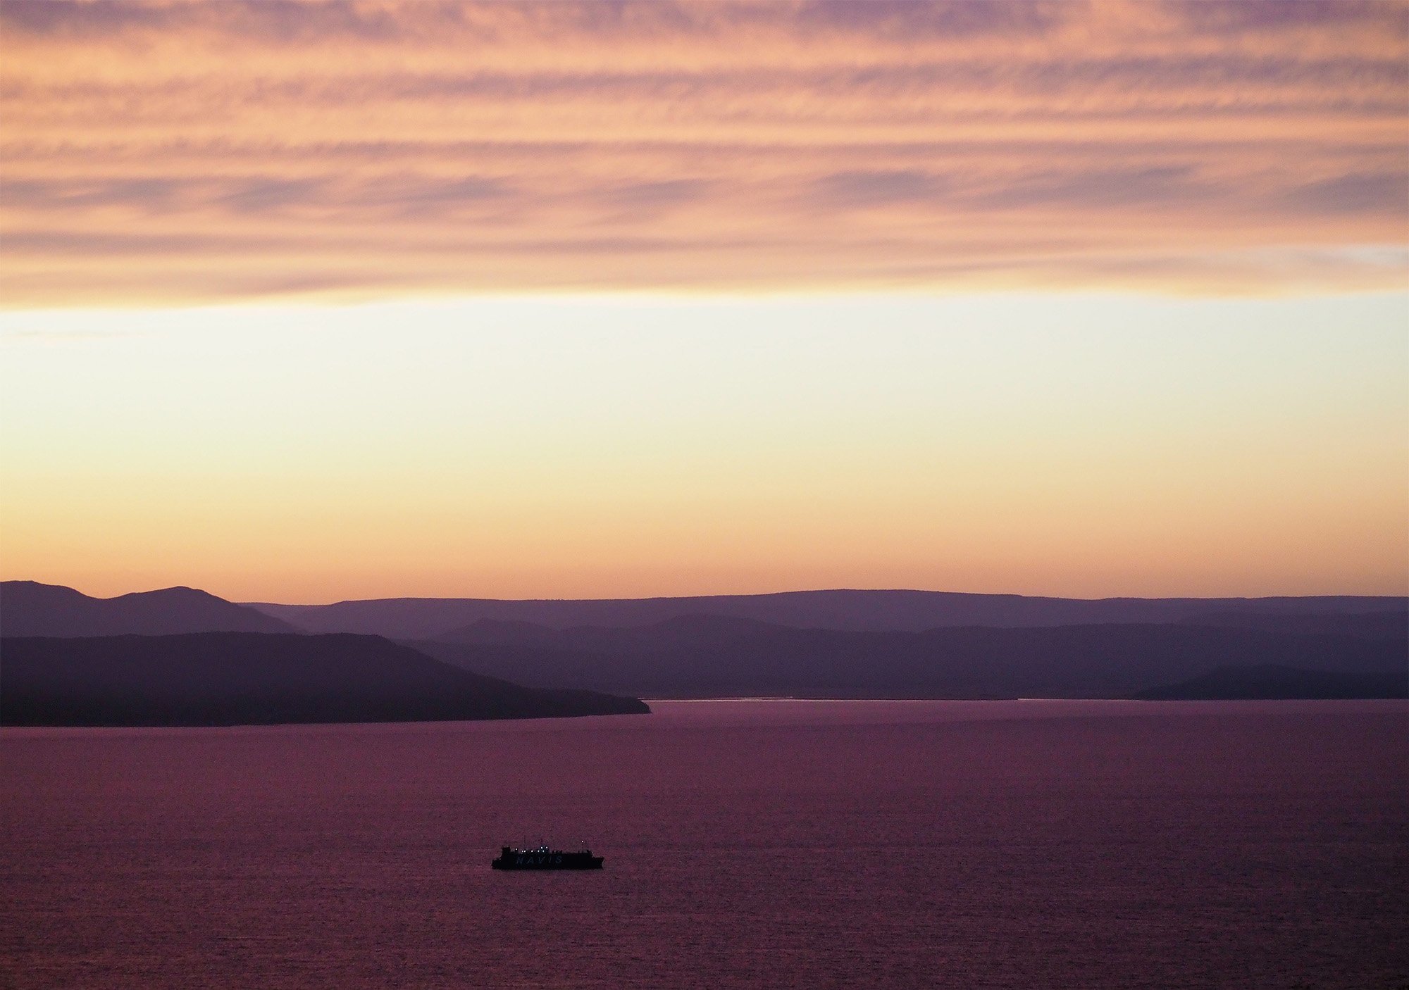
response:
[[[0,576],[1409,591],[1409,7],[0,3]]]

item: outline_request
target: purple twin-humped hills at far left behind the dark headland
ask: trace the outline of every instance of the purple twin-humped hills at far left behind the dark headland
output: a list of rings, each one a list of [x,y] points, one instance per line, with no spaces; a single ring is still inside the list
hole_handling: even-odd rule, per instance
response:
[[[280,618],[193,587],[93,599],[62,584],[0,582],[3,637],[300,632]]]

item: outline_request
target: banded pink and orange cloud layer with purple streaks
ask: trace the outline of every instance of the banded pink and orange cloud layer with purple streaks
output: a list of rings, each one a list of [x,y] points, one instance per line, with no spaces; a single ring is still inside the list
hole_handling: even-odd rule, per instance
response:
[[[1403,284],[1392,3],[0,6],[11,306]]]

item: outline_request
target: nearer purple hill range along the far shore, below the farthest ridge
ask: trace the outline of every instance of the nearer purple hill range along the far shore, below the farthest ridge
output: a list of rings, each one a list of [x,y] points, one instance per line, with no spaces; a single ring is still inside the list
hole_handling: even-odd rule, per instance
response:
[[[1403,637],[1178,622],[869,632],[719,615],[571,629],[482,620],[414,645],[524,684],[644,697],[1129,697],[1240,665],[1409,676]]]

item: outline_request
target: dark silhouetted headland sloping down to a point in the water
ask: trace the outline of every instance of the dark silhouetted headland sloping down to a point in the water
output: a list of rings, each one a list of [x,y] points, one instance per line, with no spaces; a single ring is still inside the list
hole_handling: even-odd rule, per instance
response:
[[[251,725],[648,713],[535,690],[379,637],[201,632],[0,641],[0,724]]]

